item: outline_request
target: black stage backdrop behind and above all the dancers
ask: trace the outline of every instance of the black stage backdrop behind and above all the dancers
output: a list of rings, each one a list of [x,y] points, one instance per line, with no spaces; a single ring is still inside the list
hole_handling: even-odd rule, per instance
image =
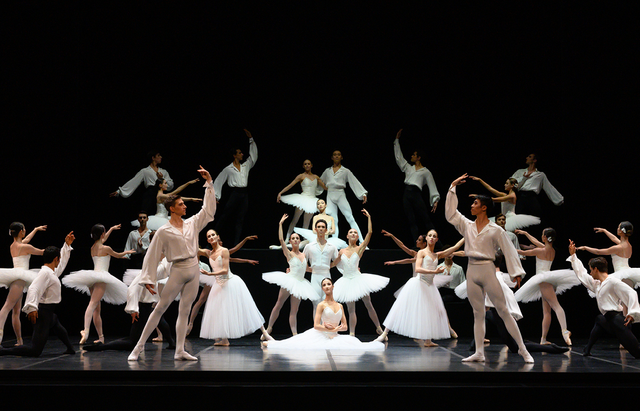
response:
[[[565,197],[556,207],[541,195],[545,226],[558,231],[553,268],[568,268],[563,261],[568,238],[608,247],[611,242],[594,234],[593,227],[615,232],[620,221],[640,224],[632,142],[640,91],[639,36],[632,18],[638,8],[591,1],[545,9],[369,5],[362,10],[306,4],[287,10],[264,5],[249,14],[241,8],[114,14],[50,5],[15,11],[5,16],[10,34],[0,155],[8,176],[8,209],[2,224],[6,229],[21,221],[27,231],[48,225],[32,241],[39,248],[62,245],[73,230],[77,240],[67,272],[90,269],[89,232],[95,223],[121,223],[123,229],[108,245],[124,247],[142,189],[128,199],[108,194],[147,166],[149,149],[160,150],[162,167],[177,186],[197,177],[200,164],[215,177],[231,162],[228,151],[234,145],[247,154],[247,127],[258,146],[258,162],[249,175],[251,203],[243,234],[259,237],[247,248],[266,249],[277,242],[278,220],[293,208],[275,197],[302,171],[303,160],[312,160],[320,175],[339,149],[344,166],[369,190],[370,249],[395,249],[380,229],[408,245],[415,240],[402,210],[404,175],[393,157],[395,134],[403,128],[406,158],[416,147],[427,153],[423,163],[443,197],[432,220],[450,244],[459,238],[443,212],[450,182],[469,173],[502,188],[514,171],[526,167],[529,153],[538,153],[539,170]],[[486,191],[472,181],[461,186],[463,212],[471,192]],[[184,191],[191,197],[201,194],[199,185]],[[359,201],[350,190],[347,198],[364,229]],[[197,209],[188,203],[188,215]],[[342,233],[344,224],[341,218]],[[539,236],[541,229],[531,232]],[[5,237],[0,266],[12,264],[11,241]],[[204,232],[201,241],[206,245]],[[234,266],[265,318],[277,287],[262,282],[260,273],[286,268],[284,257],[273,254],[271,265]],[[586,261],[589,255],[580,257]],[[32,258],[32,268],[39,264],[40,258]],[[634,257],[630,265],[640,263]],[[112,260],[116,277],[122,269]],[[530,260],[526,269],[533,273]],[[386,270],[381,262],[367,263],[365,254],[363,272],[384,275]],[[399,275],[408,276],[408,270]],[[381,320],[392,291],[381,296],[389,299],[380,302]],[[585,294],[571,290],[580,297],[567,294],[561,303],[569,325],[578,321],[575,316],[587,317],[588,331],[595,301]],[[60,316],[72,334],[82,327],[87,301],[73,290],[63,292]],[[103,316],[112,316],[105,321],[106,333],[125,334],[121,307],[104,306]],[[540,310],[537,303],[528,306],[532,320],[521,323],[531,327],[524,334],[534,338]],[[362,315],[364,310],[363,332],[372,332]],[[10,334],[10,325],[6,328]]]

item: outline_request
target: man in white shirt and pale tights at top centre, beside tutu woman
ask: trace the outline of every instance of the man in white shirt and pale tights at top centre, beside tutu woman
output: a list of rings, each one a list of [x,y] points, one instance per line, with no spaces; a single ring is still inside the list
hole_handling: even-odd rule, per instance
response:
[[[358,179],[354,176],[351,170],[342,165],[342,152],[336,150],[332,153],[331,159],[333,160],[333,166],[326,169],[320,179],[328,187],[327,190],[327,214],[334,218],[335,236],[339,234],[338,229],[338,210],[345,216],[349,227],[355,228],[358,234],[361,234],[358,223],[354,219],[354,213],[351,211],[349,201],[347,201],[347,195],[345,195],[345,188],[347,183],[353,190],[358,200],[362,200],[362,204],[367,203],[367,190],[360,184]],[[317,190],[316,195],[319,195],[322,191]]]

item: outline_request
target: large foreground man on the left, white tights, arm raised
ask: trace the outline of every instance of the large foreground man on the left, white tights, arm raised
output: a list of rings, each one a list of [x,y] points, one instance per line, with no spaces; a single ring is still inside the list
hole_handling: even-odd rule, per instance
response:
[[[180,298],[180,306],[175,323],[176,344],[173,359],[197,360],[197,358],[184,351],[184,340],[186,338],[189,311],[199,286],[198,234],[207,223],[213,221],[216,212],[215,191],[211,175],[202,166],[200,166],[198,172],[206,179],[206,190],[201,210],[195,216],[182,220],[182,216],[186,214],[184,201],[180,197],[167,199],[164,206],[167,211],[171,212],[171,219],[169,219],[169,224],[165,224],[158,229],[153,236],[153,240],[151,240],[149,249],[147,249],[140,285],[144,285],[151,294],[156,294],[154,290],[156,287],[156,269],[163,253],[167,261],[173,262],[173,265],[171,266],[171,275],[164,286],[164,290],[162,290],[162,295],[160,295],[160,302],[151,312],[138,344],[129,355],[128,360],[130,361],[138,360],[140,352],[145,348],[147,338],[156,328],[160,317],[167,310],[171,301],[175,299],[178,292],[182,292],[182,297]]]

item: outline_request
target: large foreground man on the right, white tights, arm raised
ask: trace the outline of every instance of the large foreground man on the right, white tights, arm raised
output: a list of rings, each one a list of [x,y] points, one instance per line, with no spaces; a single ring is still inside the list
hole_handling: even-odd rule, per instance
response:
[[[493,301],[502,321],[504,321],[509,334],[516,341],[519,348],[518,353],[524,358],[525,362],[532,363],[533,358],[524,346],[518,325],[506,308],[504,294],[500,283],[495,277],[493,266],[495,249],[497,247],[502,249],[509,275],[517,281],[518,286],[521,278],[525,275],[524,269],[522,269],[518,255],[504,230],[495,223],[491,223],[487,217],[487,211],[493,208],[491,198],[478,195],[473,200],[471,214],[476,216],[476,221],[465,218],[457,210],[456,186],[465,183],[465,178],[467,178],[467,174],[458,177],[452,182],[447,192],[447,203],[445,205],[447,221],[452,223],[458,229],[458,232],[465,237],[465,254],[469,258],[467,293],[473,308],[473,334],[476,339],[476,353],[463,361],[484,362],[484,345],[482,341],[484,340],[484,293],[486,292],[491,301]]]

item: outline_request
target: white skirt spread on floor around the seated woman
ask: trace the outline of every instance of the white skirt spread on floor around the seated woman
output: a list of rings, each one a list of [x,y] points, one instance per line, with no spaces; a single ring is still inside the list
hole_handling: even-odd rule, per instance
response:
[[[362,351],[384,351],[384,343],[371,341],[362,343],[354,336],[318,331],[311,328],[296,336],[280,341],[269,341],[269,351],[279,349],[353,349]]]

